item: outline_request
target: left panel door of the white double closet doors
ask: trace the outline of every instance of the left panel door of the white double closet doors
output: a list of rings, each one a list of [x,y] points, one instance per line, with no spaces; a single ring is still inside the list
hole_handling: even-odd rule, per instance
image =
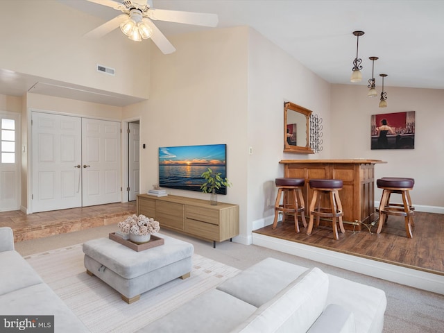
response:
[[[32,113],[32,211],[82,205],[81,119]]]

